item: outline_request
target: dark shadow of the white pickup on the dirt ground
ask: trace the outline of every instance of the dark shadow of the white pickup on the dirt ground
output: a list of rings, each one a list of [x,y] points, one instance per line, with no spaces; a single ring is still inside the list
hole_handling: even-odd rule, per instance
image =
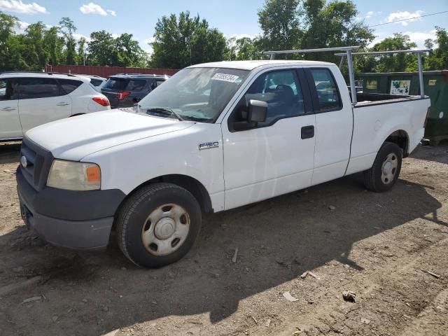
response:
[[[359,176],[349,176],[209,216],[186,258],[149,270],[127,262],[116,244],[105,253],[74,253],[45,246],[18,228],[0,237],[2,283],[10,268],[20,265],[27,277],[43,275],[48,281],[3,297],[3,309],[16,323],[3,325],[10,328],[6,334],[20,328],[33,335],[60,335],[64,330],[99,335],[179,315],[188,316],[183,328],[188,331],[202,323],[196,314],[209,313],[212,323],[222,321],[251,295],[332,260],[363,272],[365,265],[350,258],[353,244],[416,218],[447,226],[437,218],[440,207],[418,183],[399,180],[391,192],[377,194],[367,192]],[[234,263],[235,248],[239,253]],[[38,309],[18,304],[34,293],[50,299]],[[20,322],[24,314],[31,318],[27,321],[50,321],[58,314],[59,322],[31,325]]]

